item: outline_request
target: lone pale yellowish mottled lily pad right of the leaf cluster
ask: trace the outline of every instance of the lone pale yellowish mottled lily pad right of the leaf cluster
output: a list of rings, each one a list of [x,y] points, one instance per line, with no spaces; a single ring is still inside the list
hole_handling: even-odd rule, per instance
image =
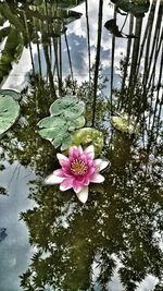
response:
[[[127,113],[118,113],[118,116],[114,116],[111,118],[112,125],[127,134],[138,134],[139,133],[139,124],[136,123],[135,119]]]

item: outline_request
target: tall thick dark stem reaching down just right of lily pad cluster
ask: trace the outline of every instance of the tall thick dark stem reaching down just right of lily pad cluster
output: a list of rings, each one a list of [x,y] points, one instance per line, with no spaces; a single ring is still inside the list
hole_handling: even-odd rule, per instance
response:
[[[95,124],[96,104],[97,104],[97,90],[98,90],[98,77],[99,77],[99,64],[100,64],[100,48],[101,48],[101,34],[102,34],[102,9],[103,0],[99,0],[99,15],[98,15],[98,40],[97,40],[97,54],[93,75],[93,102],[92,102],[92,126]]]

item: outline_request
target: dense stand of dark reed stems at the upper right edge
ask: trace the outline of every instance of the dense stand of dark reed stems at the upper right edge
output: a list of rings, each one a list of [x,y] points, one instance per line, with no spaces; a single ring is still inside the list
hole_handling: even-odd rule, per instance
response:
[[[135,21],[135,31],[134,27]],[[151,3],[146,26],[142,17],[130,15],[127,52],[122,62],[122,87],[118,92],[117,109],[136,117],[141,124],[143,147],[155,146],[161,126],[163,105],[163,27],[162,3]],[[142,29],[145,27],[145,29]],[[112,51],[114,43],[112,41]],[[113,63],[112,63],[113,65]],[[111,68],[113,71],[113,68]],[[111,78],[112,88],[112,78]]]

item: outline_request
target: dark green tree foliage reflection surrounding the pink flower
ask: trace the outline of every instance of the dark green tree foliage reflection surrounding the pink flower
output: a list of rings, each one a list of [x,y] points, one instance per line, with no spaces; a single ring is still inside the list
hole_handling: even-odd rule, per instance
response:
[[[1,146],[10,160],[18,159],[45,177],[58,167],[50,143],[36,133],[37,121],[48,114],[48,104],[52,102],[50,86],[35,77],[30,80],[30,90],[27,104],[22,100],[22,123],[20,120]],[[75,90],[84,96],[84,90],[89,92],[89,83],[76,84]],[[37,110],[34,110],[36,100]],[[100,108],[100,100],[97,101]],[[101,110],[106,109],[101,107]],[[97,118],[96,124],[101,128],[100,112]],[[134,290],[134,284],[147,274],[160,278],[161,252],[154,235],[162,230],[161,145],[156,143],[150,149],[147,160],[142,159],[140,149],[139,140],[113,132],[103,151],[111,161],[103,191],[92,187],[86,206],[78,205],[71,191],[60,193],[57,187],[42,186],[40,180],[32,182],[29,197],[36,201],[37,207],[22,214],[22,218],[37,251],[21,277],[24,290],[37,291],[51,286],[52,290],[79,291],[91,290],[97,283],[108,290],[117,266],[115,257],[123,264],[118,274],[126,290]],[[152,150],[156,159],[152,158]],[[99,269],[96,278],[95,264]]]

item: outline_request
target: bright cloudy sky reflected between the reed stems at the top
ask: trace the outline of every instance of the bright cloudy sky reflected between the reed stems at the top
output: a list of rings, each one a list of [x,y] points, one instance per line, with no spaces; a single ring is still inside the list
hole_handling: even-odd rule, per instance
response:
[[[159,4],[160,0],[158,1]],[[73,64],[74,77],[79,82],[84,78],[88,80],[88,51],[87,51],[87,29],[86,29],[86,13],[85,3],[74,8],[75,11],[82,12],[83,16],[79,20],[74,21],[67,26],[67,41],[70,46],[70,52]],[[97,33],[98,33],[98,4],[95,5],[93,0],[88,1],[88,12],[89,12],[89,29],[90,29],[90,51],[91,51],[91,65],[95,63],[96,59],[96,46],[97,46]],[[111,77],[111,56],[112,56],[112,35],[103,26],[108,20],[113,19],[114,7],[109,1],[103,3],[103,21],[102,21],[102,39],[101,39],[101,63],[102,63],[102,74]],[[117,14],[117,25],[120,29],[122,28],[125,21],[125,16]],[[155,21],[154,21],[155,22]],[[129,17],[123,28],[123,33],[128,33]],[[143,19],[142,33],[146,27],[146,17]],[[152,32],[153,34],[153,32]],[[63,57],[63,76],[70,74],[70,64],[67,59],[67,50],[62,37],[62,57]],[[114,51],[114,86],[120,87],[120,61],[126,56],[126,38],[115,38],[115,51]],[[41,47],[40,47],[41,49]],[[38,58],[36,56],[36,46],[33,46],[34,61],[36,69],[38,70]],[[41,49],[41,57],[42,57]],[[42,72],[46,76],[46,63],[43,57],[42,59]],[[140,70],[143,69],[145,57],[141,60]],[[53,68],[53,58],[52,58]],[[13,70],[10,74],[9,80],[5,82],[4,87],[12,87],[21,89],[25,85],[24,75],[32,69],[29,51],[26,49],[22,56],[18,64],[13,64]]]

